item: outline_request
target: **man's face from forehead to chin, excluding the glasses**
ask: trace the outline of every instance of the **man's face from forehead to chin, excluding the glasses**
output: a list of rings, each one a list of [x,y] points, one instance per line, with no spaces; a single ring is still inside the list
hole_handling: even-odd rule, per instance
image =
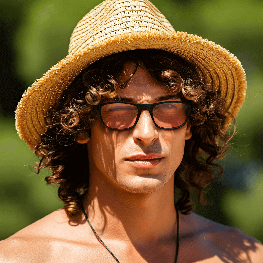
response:
[[[129,77],[132,69],[132,65],[126,65],[120,83]],[[165,95],[169,92],[164,85],[140,68],[118,93],[124,101],[128,98],[138,104],[155,103]],[[162,101],[169,100],[180,99]],[[124,131],[110,130],[98,118],[88,143],[90,176],[100,175],[114,187],[128,192],[152,193],[174,175],[183,158],[185,140],[189,138],[190,125],[174,130],[157,128],[147,110],[141,112],[134,128]]]

